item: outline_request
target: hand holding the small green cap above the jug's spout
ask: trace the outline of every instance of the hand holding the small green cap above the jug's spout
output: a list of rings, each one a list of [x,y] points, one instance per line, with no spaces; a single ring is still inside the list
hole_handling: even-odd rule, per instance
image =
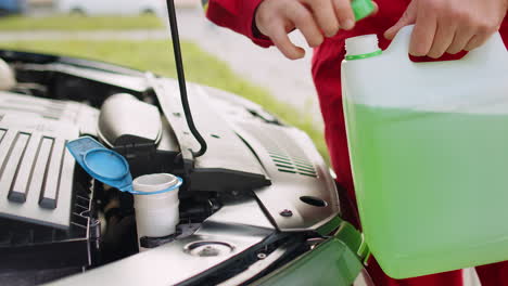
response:
[[[300,29],[314,48],[340,28],[352,29],[355,16],[351,0],[264,0],[257,8],[255,25],[287,57],[296,60],[305,51],[289,39],[293,29]]]

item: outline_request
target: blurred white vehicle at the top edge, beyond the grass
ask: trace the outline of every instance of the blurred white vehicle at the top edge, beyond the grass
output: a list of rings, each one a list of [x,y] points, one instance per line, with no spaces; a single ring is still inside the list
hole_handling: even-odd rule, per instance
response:
[[[85,15],[139,15],[165,12],[164,0],[59,0],[59,12]]]

